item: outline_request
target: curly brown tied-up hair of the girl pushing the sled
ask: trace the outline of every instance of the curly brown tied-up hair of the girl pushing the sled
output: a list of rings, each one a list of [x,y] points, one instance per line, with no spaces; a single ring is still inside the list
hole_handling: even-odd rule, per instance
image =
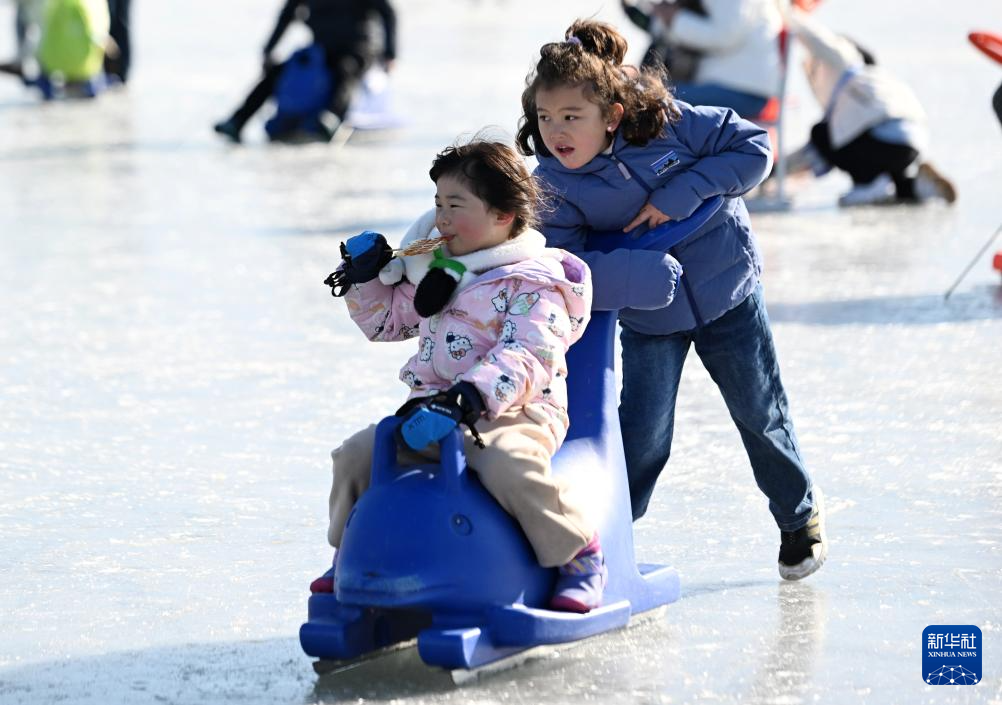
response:
[[[557,86],[582,86],[584,94],[608,117],[613,103],[623,106],[619,129],[630,144],[645,144],[660,135],[681,113],[665,87],[662,67],[624,66],[626,39],[615,27],[595,20],[576,20],[564,33],[567,41],[544,44],[539,61],[525,79],[522,117],[515,142],[522,154],[552,156],[543,144],[536,115],[536,92]]]

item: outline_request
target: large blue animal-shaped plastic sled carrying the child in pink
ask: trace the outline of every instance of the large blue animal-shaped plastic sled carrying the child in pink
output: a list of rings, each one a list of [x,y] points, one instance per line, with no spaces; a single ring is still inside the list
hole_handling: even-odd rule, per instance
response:
[[[596,233],[589,240],[663,250],[701,228],[721,203],[709,200],[690,218],[639,238]],[[401,420],[390,417],[377,428],[372,485],[337,554],[337,593],[310,598],[300,630],[307,654],[353,659],[417,637],[426,663],[475,668],[623,627],[630,615],[678,599],[674,569],[633,558],[615,323],[615,311],[595,311],[568,354],[570,431],[553,459],[554,474],[597,498],[589,509],[609,569],[603,606],[583,615],[544,609],[556,572],[536,563],[521,529],[469,471],[461,432],[443,439],[441,464],[401,468],[394,439]]]

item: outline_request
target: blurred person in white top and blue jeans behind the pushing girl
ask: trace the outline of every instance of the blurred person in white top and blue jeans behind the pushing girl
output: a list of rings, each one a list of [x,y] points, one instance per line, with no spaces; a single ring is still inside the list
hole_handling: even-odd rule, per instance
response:
[[[755,119],[779,92],[778,0],[622,0],[622,5],[651,36],[643,63],[665,65],[676,98]]]

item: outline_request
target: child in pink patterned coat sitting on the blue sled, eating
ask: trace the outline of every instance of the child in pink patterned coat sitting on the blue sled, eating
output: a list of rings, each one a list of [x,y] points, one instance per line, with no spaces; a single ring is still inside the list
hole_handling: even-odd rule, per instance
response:
[[[582,508],[552,477],[550,461],[567,433],[565,355],[591,310],[588,267],[546,247],[533,229],[538,194],[515,151],[474,140],[439,153],[430,176],[435,210],[404,238],[444,238],[433,252],[394,257],[383,235],[342,245],[328,279],[371,340],[418,337],[400,379],[411,388],[399,460],[436,460],[433,445],[465,424],[465,451],[484,488],[521,525],[536,558],[558,567],[550,607],[588,612],[606,580],[598,536]],[[438,428],[411,428],[417,412]],[[427,417],[426,417],[427,418]],[[370,483],[376,427],[332,453],[328,540],[338,547],[352,508]],[[311,585],[334,592],[332,568]]]

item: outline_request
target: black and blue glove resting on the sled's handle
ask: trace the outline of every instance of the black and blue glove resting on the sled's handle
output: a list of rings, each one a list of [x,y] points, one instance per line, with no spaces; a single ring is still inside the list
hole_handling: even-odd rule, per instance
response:
[[[484,401],[477,388],[461,382],[432,397],[412,399],[397,410],[397,416],[404,418],[398,435],[409,447],[420,451],[441,441],[459,424],[465,424],[473,434],[474,443],[483,448],[484,441],[476,428],[483,413]]]

